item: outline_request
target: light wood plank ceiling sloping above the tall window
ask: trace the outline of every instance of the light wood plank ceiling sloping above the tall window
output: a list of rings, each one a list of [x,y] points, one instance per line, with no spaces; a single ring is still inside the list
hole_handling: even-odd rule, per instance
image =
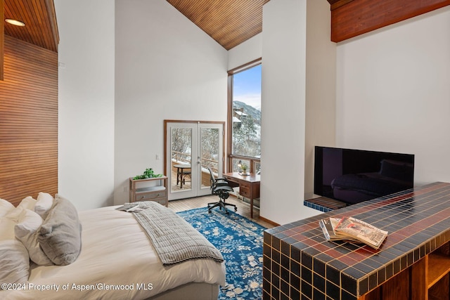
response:
[[[167,0],[229,50],[262,32],[262,6],[269,0]]]

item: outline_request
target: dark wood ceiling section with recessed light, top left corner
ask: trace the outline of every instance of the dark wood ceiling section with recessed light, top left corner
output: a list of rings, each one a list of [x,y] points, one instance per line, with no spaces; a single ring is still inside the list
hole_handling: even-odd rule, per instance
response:
[[[25,23],[20,27],[4,22],[5,34],[58,52],[59,34],[53,0],[4,0],[4,18]]]

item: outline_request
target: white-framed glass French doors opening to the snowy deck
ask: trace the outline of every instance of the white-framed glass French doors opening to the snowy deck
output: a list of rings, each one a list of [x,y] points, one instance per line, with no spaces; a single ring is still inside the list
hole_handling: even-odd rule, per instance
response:
[[[165,170],[169,200],[209,195],[210,167],[224,166],[224,122],[165,120]]]

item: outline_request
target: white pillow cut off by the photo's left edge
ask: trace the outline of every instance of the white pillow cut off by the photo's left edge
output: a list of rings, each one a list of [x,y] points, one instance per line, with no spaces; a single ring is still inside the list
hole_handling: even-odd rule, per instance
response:
[[[0,218],[0,282],[24,283],[30,271],[30,256],[14,236],[15,222]]]

